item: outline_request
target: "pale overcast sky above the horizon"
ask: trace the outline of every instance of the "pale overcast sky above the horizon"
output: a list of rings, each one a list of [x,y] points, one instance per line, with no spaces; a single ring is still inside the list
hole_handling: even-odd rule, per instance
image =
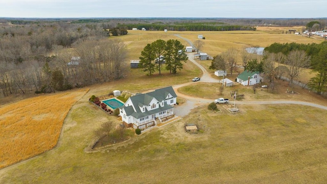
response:
[[[327,17],[327,0],[0,0],[0,17]]]

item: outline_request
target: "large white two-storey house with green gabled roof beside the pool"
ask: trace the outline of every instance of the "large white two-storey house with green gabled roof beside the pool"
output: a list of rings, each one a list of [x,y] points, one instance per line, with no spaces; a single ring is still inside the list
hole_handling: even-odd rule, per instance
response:
[[[145,129],[174,115],[177,95],[172,86],[130,97],[120,108],[126,127]]]

